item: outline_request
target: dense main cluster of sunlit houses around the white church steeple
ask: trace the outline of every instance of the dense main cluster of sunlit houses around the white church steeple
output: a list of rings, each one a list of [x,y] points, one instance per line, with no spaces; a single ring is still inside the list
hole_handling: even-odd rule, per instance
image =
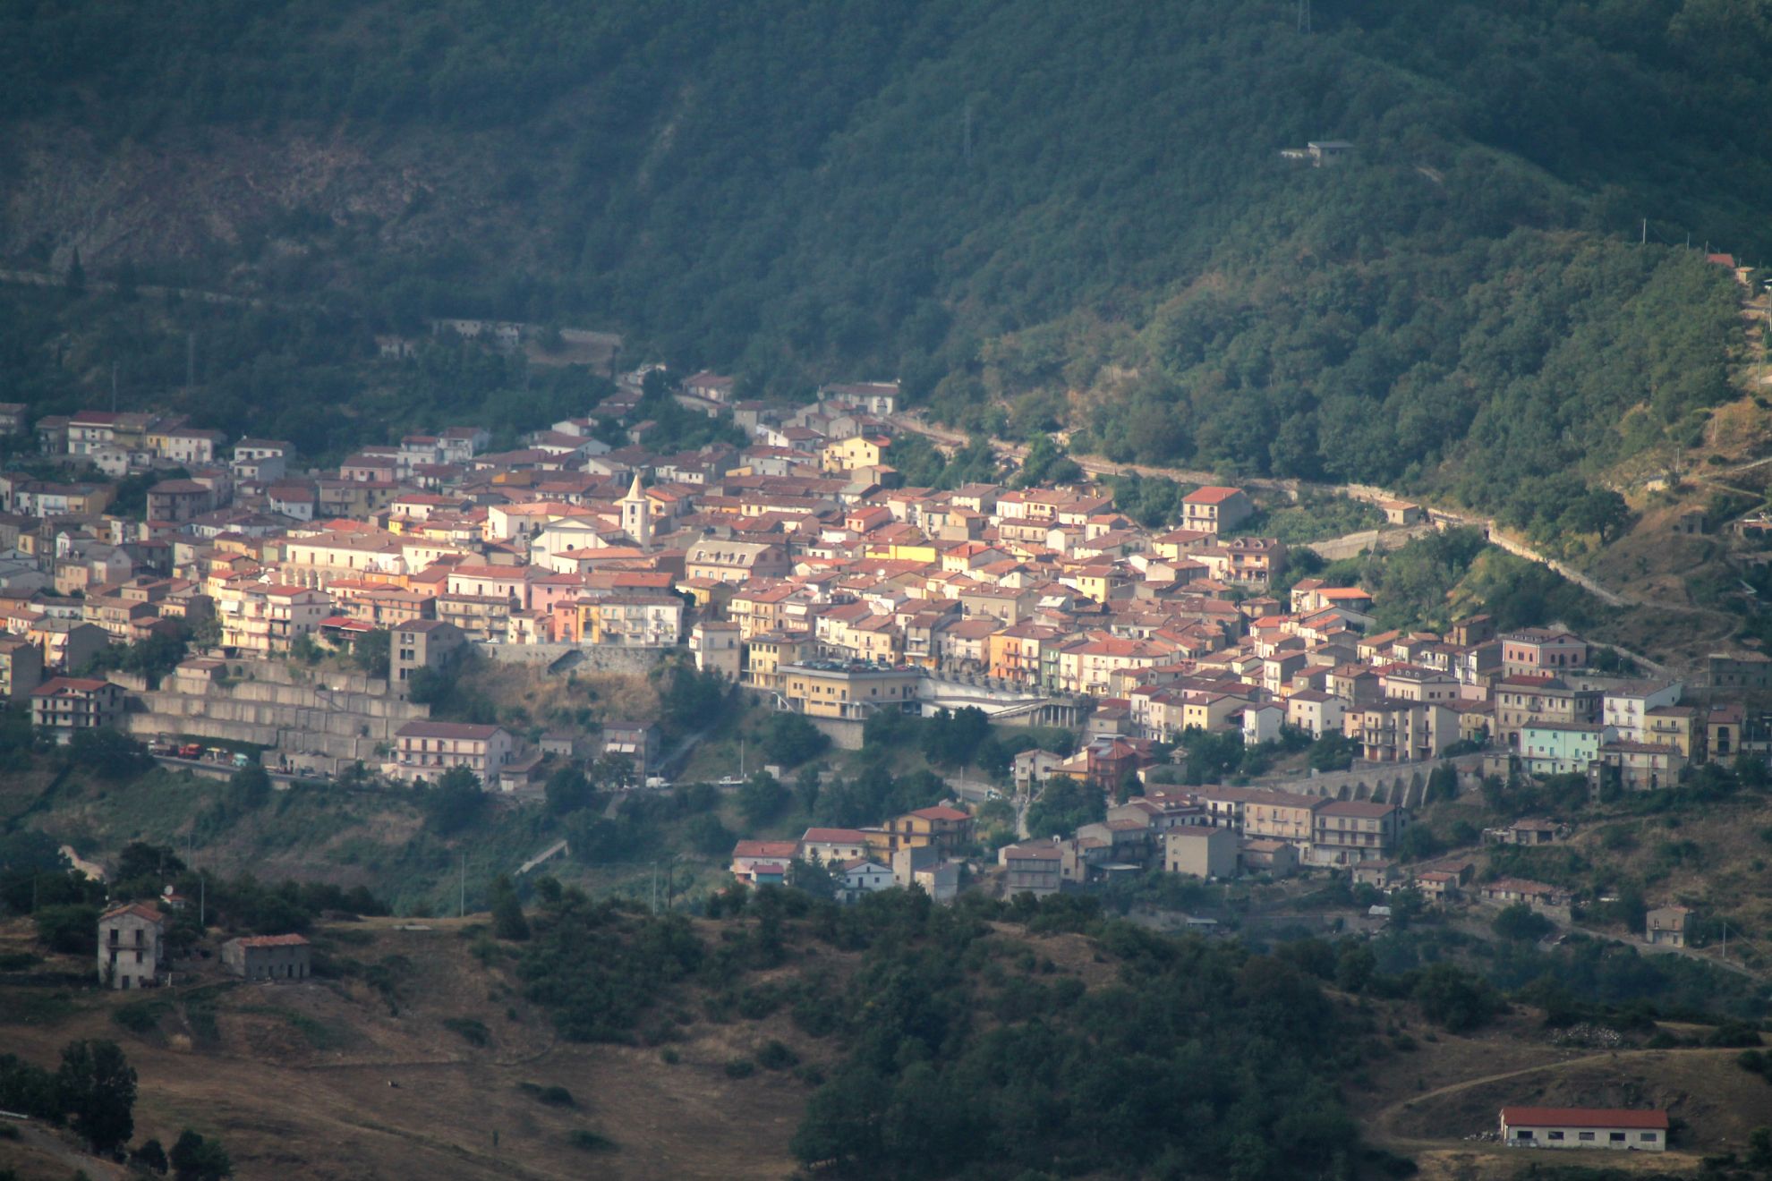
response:
[[[27,425],[0,407],[0,428],[35,432],[71,471],[175,475],[147,485],[136,521],[106,512],[113,483],[0,473],[0,689],[66,737],[117,717],[105,682],[73,676],[105,645],[197,632],[213,641],[200,662],[385,629],[397,696],[471,645],[686,645],[702,668],[831,721],[920,712],[930,680],[964,678],[1083,703],[1118,742],[1084,753],[1090,768],[1187,729],[1256,744],[1285,726],[1343,735],[1373,763],[1496,744],[1531,772],[1627,788],[1742,749],[1738,706],[1597,675],[1565,630],[1503,634],[1478,614],[1446,634],[1380,632],[1357,586],[1302,579],[1276,597],[1286,545],[1247,529],[1258,510],[1240,489],[1194,489],[1173,528],[1148,529],[1090,485],[905,487],[895,382],[776,405],[695,374],[673,397],[748,443],[659,453],[656,423],[636,421],[645,379],[624,375],[517,450],[450,427],[326,473],[299,469],[289,443],[229,448],[183,416]],[[1767,682],[1756,653],[1717,662],[1717,676]],[[525,758],[482,729],[415,724],[393,768],[489,777]]]

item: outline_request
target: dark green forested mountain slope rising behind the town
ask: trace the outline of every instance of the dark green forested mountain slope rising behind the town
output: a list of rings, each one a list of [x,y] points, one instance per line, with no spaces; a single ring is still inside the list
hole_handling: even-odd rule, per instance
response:
[[[1728,397],[1763,4],[1310,7],[21,0],[0,255],[1485,505]]]

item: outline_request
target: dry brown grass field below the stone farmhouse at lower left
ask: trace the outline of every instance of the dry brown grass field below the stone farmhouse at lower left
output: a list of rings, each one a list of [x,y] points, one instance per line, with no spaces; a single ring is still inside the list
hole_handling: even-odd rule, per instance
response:
[[[562,1043],[546,1015],[521,999],[509,965],[473,954],[477,940],[462,937],[471,921],[402,926],[413,924],[351,924],[353,944],[333,953],[395,963],[392,1004],[361,981],[340,979],[74,992],[41,1023],[0,1023],[0,1048],[53,1064],[73,1038],[119,1041],[140,1073],[136,1139],[170,1144],[184,1126],[218,1135],[243,1181],[792,1172],[787,1142],[810,1087],[787,1073],[725,1073],[728,1061],[750,1057],[769,1038],[806,1061],[831,1054],[785,1018],[695,1022],[673,1046],[677,1064],[659,1050]],[[12,930],[4,942],[19,944],[21,935]],[[119,1027],[113,1011],[144,1000],[158,1011],[158,1029]],[[447,1023],[462,1016],[484,1022],[486,1045]],[[565,1087],[574,1105],[539,1101],[525,1084]],[[613,1147],[578,1147],[578,1131]],[[55,1144],[0,1140],[0,1167],[66,1181],[69,1158],[50,1156],[39,1140]],[[97,1177],[96,1165],[80,1167]]]

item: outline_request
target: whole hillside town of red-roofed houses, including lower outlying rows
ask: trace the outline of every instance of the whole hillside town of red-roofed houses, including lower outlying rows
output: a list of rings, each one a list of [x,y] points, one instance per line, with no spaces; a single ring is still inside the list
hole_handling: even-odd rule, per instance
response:
[[[415,685],[468,652],[555,673],[688,657],[851,749],[882,712],[973,708],[1081,735],[1015,756],[1005,788],[1021,839],[978,866],[1035,896],[1148,869],[1334,868],[1382,889],[1402,880],[1396,846],[1435,772],[1453,786],[1584,776],[1598,795],[1765,753],[1742,703],[1772,683],[1760,653],[1714,655],[1694,696],[1678,678],[1597,668],[1597,648],[1559,627],[1471,614],[1444,632],[1386,630],[1361,586],[1285,577],[1288,547],[1246,528],[1260,517],[1239,487],[1189,490],[1162,528],[1090,483],[905,487],[891,464],[897,382],[781,405],[695,374],[672,402],[748,444],[659,453],[654,423],[634,421],[661,386],[654,370],[517,450],[441,425],[328,471],[289,443],[229,444],[181,416],[27,421],[0,407],[18,444],[18,469],[0,473],[0,689],[55,742],[115,728],[177,761],[245,765],[257,749],[280,774],[365,765],[413,783],[461,767],[517,793],[587,753],[617,753],[636,784],[663,786],[657,731],[611,722],[587,744],[432,719]],[[626,444],[599,437],[611,425]],[[23,471],[44,466],[62,478]],[[140,510],[117,512],[131,482]],[[1379,508],[1391,526],[1432,528],[1416,505]],[[388,637],[385,675],[319,683],[291,660],[374,632]],[[188,645],[186,659],[158,675],[105,659],[156,637]],[[1187,735],[1340,744],[1345,770],[1182,784],[1170,772]],[[1106,816],[1026,832],[1028,800],[1060,779],[1108,797]],[[895,884],[952,898],[976,855],[962,802],[744,839],[732,873],[769,884],[817,862],[843,898]],[[1492,836],[1558,834],[1526,820]],[[1405,884],[1451,899],[1473,889],[1471,869],[1421,862]],[[1566,901],[1531,882],[1481,891]]]

